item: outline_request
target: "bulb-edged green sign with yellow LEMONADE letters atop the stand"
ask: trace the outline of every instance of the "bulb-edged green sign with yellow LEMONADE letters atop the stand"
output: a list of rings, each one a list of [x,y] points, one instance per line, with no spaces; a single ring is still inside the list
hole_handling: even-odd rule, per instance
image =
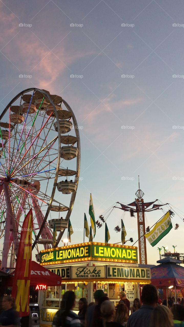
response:
[[[88,242],[42,250],[40,264],[50,265],[84,260],[137,263],[138,252],[137,247]]]

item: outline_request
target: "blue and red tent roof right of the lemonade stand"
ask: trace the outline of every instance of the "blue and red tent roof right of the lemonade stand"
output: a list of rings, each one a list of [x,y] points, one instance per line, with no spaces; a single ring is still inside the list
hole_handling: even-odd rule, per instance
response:
[[[180,260],[170,257],[158,260],[160,265],[151,268],[151,283],[157,288],[184,286],[184,267],[179,266]]]

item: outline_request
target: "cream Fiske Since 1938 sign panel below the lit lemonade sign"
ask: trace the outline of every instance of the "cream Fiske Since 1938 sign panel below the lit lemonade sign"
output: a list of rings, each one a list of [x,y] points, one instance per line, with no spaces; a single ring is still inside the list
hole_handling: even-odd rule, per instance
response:
[[[72,279],[105,278],[104,266],[71,267],[71,268],[72,268]]]

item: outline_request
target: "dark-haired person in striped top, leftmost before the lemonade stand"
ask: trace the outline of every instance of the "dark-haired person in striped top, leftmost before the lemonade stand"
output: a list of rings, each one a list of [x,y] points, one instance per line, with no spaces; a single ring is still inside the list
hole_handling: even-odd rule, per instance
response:
[[[75,293],[67,291],[63,295],[61,309],[56,312],[52,327],[81,327],[81,321],[77,314],[72,311],[75,307]]]

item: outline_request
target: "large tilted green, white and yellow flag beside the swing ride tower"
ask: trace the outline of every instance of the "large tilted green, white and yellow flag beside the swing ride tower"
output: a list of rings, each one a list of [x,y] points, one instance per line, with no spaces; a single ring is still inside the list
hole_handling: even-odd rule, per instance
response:
[[[144,236],[147,238],[151,246],[155,246],[165,235],[167,235],[168,232],[170,232],[172,228],[173,225],[168,211],[163,218],[155,224],[154,228]]]

